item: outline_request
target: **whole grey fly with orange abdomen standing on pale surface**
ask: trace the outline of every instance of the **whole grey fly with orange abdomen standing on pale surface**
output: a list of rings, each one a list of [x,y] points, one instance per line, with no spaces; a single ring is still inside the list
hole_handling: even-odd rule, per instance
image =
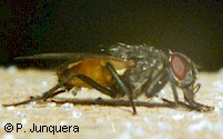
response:
[[[212,110],[212,107],[194,100],[200,88],[200,85],[195,83],[197,71],[195,64],[186,56],[179,52],[166,54],[153,47],[124,43],[111,46],[108,53],[105,56],[84,54],[84,57],[72,54],[69,62],[57,71],[59,78],[57,86],[40,97],[31,97],[29,100],[4,106],[47,100],[63,92],[59,91],[61,87],[68,90],[73,87],[85,87],[94,88],[111,98],[128,97],[129,105],[123,106],[131,106],[133,113],[136,113],[135,106],[143,106],[142,102],[136,101],[140,96],[155,97],[170,82],[174,102],[163,99],[166,106],[184,106],[199,111]],[[47,54],[34,56],[34,58],[42,58],[42,56]],[[74,61],[74,57],[78,57],[78,60]],[[176,88],[183,91],[184,102],[179,100]]]

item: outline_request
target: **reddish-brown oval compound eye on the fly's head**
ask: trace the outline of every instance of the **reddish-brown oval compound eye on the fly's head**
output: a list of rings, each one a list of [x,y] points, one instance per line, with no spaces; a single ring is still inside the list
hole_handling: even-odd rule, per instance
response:
[[[180,53],[171,56],[171,68],[179,80],[184,79],[190,69],[187,60]]]

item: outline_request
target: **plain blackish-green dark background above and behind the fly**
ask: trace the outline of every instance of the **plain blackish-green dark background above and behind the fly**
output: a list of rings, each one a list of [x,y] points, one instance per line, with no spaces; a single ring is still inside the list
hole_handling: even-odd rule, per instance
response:
[[[101,44],[109,48],[116,42],[171,49],[190,57],[201,70],[219,70],[223,1],[0,1],[0,64],[34,53],[100,52]],[[29,62],[33,61],[23,63]]]

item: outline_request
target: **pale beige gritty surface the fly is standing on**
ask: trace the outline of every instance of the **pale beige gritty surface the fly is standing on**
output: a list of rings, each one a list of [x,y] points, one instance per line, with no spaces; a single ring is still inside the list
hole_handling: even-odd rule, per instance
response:
[[[221,139],[223,138],[223,70],[199,73],[201,90],[196,101],[215,107],[211,112],[196,112],[170,108],[138,107],[132,116],[129,107],[73,106],[64,103],[29,103],[4,108],[2,103],[18,102],[30,96],[41,95],[57,83],[52,71],[19,70],[16,67],[0,68],[0,137],[19,138],[79,138],[79,139]],[[179,91],[181,95],[181,92]],[[166,86],[161,97],[172,99]],[[62,97],[73,97],[65,92]],[[95,90],[81,89],[81,98],[108,98]],[[180,96],[182,99],[182,96]],[[140,98],[144,99],[144,98]],[[144,99],[145,100],[145,99]],[[154,99],[155,100],[155,99]],[[149,101],[149,100],[146,100]],[[7,123],[13,125],[6,132]],[[22,129],[16,131],[17,123]],[[79,132],[30,132],[32,126],[78,126]]]

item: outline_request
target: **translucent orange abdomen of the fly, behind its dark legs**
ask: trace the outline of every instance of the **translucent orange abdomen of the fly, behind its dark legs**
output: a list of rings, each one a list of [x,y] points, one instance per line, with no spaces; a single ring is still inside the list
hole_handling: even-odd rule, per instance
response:
[[[69,75],[82,73],[91,78],[95,82],[100,83],[101,86],[109,87],[112,83],[112,76],[105,67],[107,62],[110,62],[116,71],[126,70],[128,68],[133,66],[133,62],[122,61],[120,59],[114,59],[110,57],[87,58],[87,59],[80,60],[79,62],[70,64],[68,69],[68,73]],[[89,85],[87,85],[84,81],[78,78],[73,78],[72,80],[68,82],[68,85],[91,88]]]

